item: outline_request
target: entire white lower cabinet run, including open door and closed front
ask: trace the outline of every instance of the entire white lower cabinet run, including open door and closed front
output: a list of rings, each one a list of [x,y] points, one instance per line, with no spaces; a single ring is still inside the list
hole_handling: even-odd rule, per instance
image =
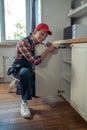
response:
[[[36,49],[41,54],[46,48]],[[61,95],[87,121],[87,43],[66,44],[36,66],[36,95]]]

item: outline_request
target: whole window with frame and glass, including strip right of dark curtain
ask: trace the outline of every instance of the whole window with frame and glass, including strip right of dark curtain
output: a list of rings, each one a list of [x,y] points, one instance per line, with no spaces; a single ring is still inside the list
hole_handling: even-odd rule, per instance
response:
[[[37,24],[40,22],[40,0],[34,2]],[[32,0],[0,0],[0,42],[19,40],[31,32],[31,6]]]

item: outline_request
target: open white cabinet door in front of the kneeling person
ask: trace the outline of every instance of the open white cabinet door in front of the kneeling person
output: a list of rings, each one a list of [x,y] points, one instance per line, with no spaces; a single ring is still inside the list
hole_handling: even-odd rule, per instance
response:
[[[41,54],[46,49],[43,45],[38,45],[36,55]],[[60,52],[49,53],[40,65],[35,67],[36,95],[50,96],[57,95],[60,86]]]

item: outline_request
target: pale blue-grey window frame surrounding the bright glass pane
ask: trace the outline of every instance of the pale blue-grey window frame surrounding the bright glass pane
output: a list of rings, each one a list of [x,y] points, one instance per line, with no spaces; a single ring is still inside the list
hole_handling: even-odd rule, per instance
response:
[[[26,2],[26,36],[31,32],[30,17],[31,17],[31,0],[25,0]],[[4,0],[0,0],[0,44],[3,43],[16,43],[18,40],[6,40],[5,37],[5,12],[4,12]]]

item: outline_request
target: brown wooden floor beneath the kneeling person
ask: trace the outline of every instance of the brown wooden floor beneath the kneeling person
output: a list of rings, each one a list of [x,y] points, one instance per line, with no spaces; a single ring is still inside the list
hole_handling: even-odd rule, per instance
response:
[[[33,98],[32,117],[20,114],[20,97],[0,84],[0,130],[87,130],[87,122],[60,96]]]

